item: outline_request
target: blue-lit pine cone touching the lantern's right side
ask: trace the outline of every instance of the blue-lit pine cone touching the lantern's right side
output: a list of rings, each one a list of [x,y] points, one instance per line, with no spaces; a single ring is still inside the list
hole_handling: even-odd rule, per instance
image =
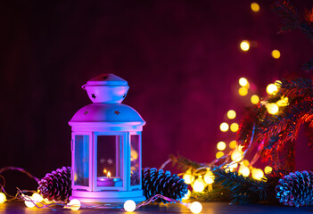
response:
[[[146,199],[162,194],[171,199],[181,200],[188,191],[187,186],[184,179],[177,177],[176,174],[171,176],[169,171],[164,173],[163,170],[158,171],[155,168],[143,170],[143,190]],[[167,203],[160,198],[155,202]]]

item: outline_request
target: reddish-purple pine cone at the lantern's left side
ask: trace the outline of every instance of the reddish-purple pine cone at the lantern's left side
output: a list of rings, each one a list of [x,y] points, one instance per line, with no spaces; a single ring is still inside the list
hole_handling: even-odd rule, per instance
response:
[[[71,194],[70,167],[56,169],[47,173],[39,181],[39,193],[49,201],[68,202]]]

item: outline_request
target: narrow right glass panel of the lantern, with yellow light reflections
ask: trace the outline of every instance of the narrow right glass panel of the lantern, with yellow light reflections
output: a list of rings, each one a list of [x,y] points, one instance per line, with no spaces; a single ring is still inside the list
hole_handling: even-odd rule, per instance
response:
[[[130,136],[130,185],[140,185],[140,136]]]

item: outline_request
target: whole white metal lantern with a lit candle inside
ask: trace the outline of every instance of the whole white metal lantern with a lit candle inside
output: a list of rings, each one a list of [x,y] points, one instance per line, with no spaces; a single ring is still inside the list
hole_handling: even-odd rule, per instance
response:
[[[139,113],[122,104],[128,82],[102,74],[82,86],[93,102],[78,110],[70,126],[71,199],[80,202],[145,200],[141,181]]]

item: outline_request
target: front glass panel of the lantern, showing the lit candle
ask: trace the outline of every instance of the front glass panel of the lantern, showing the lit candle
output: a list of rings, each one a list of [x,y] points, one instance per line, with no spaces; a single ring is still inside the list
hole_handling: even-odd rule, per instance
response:
[[[122,186],[122,136],[97,136],[97,186]]]

